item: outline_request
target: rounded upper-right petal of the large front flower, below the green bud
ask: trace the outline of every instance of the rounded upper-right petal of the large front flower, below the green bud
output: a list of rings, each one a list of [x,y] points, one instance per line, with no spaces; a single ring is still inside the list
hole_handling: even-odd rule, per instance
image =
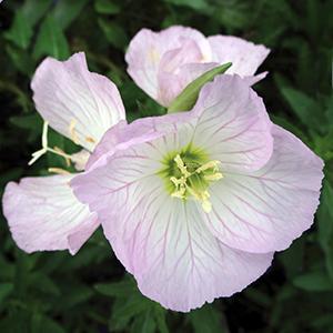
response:
[[[271,121],[262,99],[238,75],[205,84],[192,111],[199,117],[194,147],[226,170],[258,170],[273,150]]]

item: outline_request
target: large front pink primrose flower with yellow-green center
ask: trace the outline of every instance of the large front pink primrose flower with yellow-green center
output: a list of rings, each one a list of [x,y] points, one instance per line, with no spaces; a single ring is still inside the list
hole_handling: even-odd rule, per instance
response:
[[[186,312],[244,289],[311,226],[322,168],[220,75],[190,112],[113,127],[71,185],[141,292]]]

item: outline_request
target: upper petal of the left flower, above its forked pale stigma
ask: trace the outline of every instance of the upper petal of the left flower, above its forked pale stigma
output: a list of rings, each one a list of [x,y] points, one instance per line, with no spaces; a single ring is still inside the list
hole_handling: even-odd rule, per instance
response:
[[[37,110],[50,125],[92,151],[104,132],[125,119],[117,87],[88,70],[84,53],[47,58],[31,82]]]

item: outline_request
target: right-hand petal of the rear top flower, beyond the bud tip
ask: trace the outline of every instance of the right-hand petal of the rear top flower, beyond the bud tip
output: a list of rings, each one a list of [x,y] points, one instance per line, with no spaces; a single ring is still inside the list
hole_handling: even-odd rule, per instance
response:
[[[239,37],[219,34],[209,37],[208,40],[212,48],[212,61],[232,62],[232,67],[228,70],[229,74],[253,75],[270,53],[264,46],[254,44]]]

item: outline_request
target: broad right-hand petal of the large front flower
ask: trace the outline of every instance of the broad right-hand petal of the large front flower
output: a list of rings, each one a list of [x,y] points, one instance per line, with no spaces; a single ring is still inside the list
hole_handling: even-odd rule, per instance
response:
[[[272,158],[255,172],[225,172],[211,189],[210,230],[235,249],[286,249],[313,223],[323,162],[301,140],[273,127]]]

